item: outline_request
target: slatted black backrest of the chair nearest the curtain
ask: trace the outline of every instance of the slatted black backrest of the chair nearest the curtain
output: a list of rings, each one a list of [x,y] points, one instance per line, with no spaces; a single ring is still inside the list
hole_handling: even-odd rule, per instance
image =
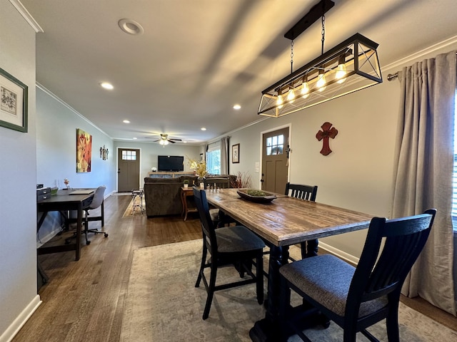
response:
[[[371,220],[368,236],[348,294],[346,311],[363,301],[401,291],[403,281],[421,253],[431,231],[435,209],[401,219]],[[385,239],[381,254],[381,241]],[[358,303],[358,304],[357,304]]]

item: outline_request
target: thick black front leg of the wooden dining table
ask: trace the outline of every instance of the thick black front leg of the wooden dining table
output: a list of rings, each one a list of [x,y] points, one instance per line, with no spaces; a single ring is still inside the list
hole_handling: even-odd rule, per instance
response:
[[[279,324],[279,293],[281,281],[279,267],[288,262],[288,246],[270,246],[270,261],[268,264],[268,299],[265,318],[257,321],[249,336],[256,342],[280,341],[281,330]]]

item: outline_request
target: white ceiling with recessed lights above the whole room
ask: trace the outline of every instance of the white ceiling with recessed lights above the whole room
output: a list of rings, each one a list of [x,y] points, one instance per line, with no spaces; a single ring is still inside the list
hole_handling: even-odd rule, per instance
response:
[[[454,0],[334,1],[324,51],[358,32],[379,43],[381,67],[457,32]],[[167,133],[200,145],[262,118],[261,90],[290,73],[283,35],[318,0],[21,3],[44,30],[36,35],[41,86],[115,140],[152,142]],[[120,19],[144,33],[124,33]],[[320,53],[318,21],[294,41],[294,70]]]

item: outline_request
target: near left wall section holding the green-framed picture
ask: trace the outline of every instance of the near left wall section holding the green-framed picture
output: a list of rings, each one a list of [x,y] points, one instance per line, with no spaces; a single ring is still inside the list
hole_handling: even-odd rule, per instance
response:
[[[0,68],[29,87],[29,132],[0,127],[0,341],[39,305],[36,294],[35,31],[0,0]]]

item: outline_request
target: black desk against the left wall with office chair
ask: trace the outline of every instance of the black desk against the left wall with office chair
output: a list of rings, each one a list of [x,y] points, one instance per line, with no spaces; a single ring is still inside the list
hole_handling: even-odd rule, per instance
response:
[[[95,191],[95,190],[94,190]],[[87,195],[69,195],[71,190],[59,190],[57,195],[51,196],[48,199],[36,202],[36,209],[38,212],[42,212],[38,224],[36,225],[36,232],[39,231],[41,224],[48,212],[63,212],[68,210],[76,210],[78,217],[76,219],[76,242],[74,244],[65,244],[61,246],[53,247],[40,247],[37,251],[38,254],[49,254],[56,252],[76,251],[75,259],[79,260],[81,252],[81,227],[83,221],[83,209],[92,202],[94,192]],[[104,208],[103,203],[101,204],[101,212],[103,216]],[[68,227],[69,219],[66,217],[66,225]],[[103,224],[102,224],[103,225]]]

